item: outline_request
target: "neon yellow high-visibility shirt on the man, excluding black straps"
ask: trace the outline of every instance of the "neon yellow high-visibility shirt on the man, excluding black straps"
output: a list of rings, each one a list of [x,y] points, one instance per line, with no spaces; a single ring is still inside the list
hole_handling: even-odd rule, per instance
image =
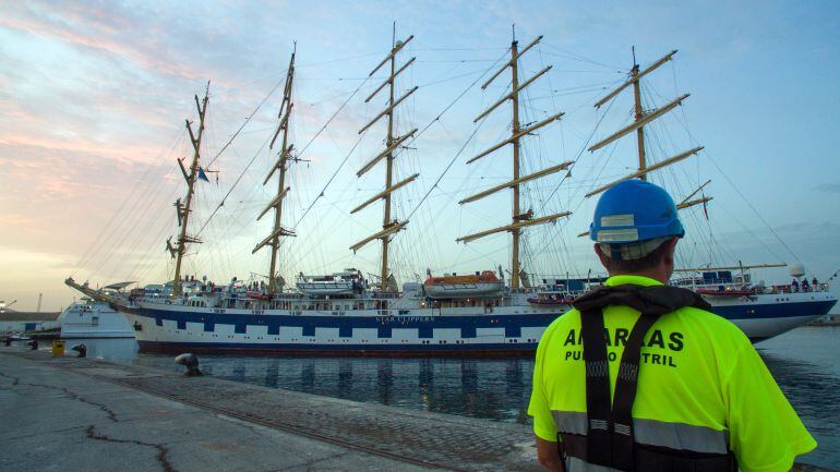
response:
[[[610,277],[607,286],[657,286],[646,277]],[[610,389],[639,312],[604,310]],[[535,434],[586,435],[586,370],[580,312],[552,323],[540,339],[528,414]],[[741,329],[694,307],[661,316],[645,337],[633,407],[637,444],[686,453],[734,452],[744,472],[787,472],[796,456],[816,447]],[[567,468],[588,470],[571,458]]]

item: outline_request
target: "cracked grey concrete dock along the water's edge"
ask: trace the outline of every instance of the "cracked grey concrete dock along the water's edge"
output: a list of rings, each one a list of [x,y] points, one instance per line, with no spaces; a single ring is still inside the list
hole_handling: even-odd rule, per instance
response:
[[[0,417],[3,471],[542,470],[525,425],[22,347],[0,348]]]

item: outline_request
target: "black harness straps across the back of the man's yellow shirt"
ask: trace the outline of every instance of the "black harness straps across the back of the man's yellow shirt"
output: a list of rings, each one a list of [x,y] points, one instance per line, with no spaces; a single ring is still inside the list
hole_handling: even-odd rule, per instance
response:
[[[645,336],[660,316],[694,306],[711,310],[691,290],[676,287],[601,287],[573,303],[580,311],[586,362],[587,462],[634,471],[633,403],[636,399],[639,358]],[[614,401],[610,400],[610,371],[604,338],[603,308],[625,305],[641,312],[631,330],[619,364]]]

